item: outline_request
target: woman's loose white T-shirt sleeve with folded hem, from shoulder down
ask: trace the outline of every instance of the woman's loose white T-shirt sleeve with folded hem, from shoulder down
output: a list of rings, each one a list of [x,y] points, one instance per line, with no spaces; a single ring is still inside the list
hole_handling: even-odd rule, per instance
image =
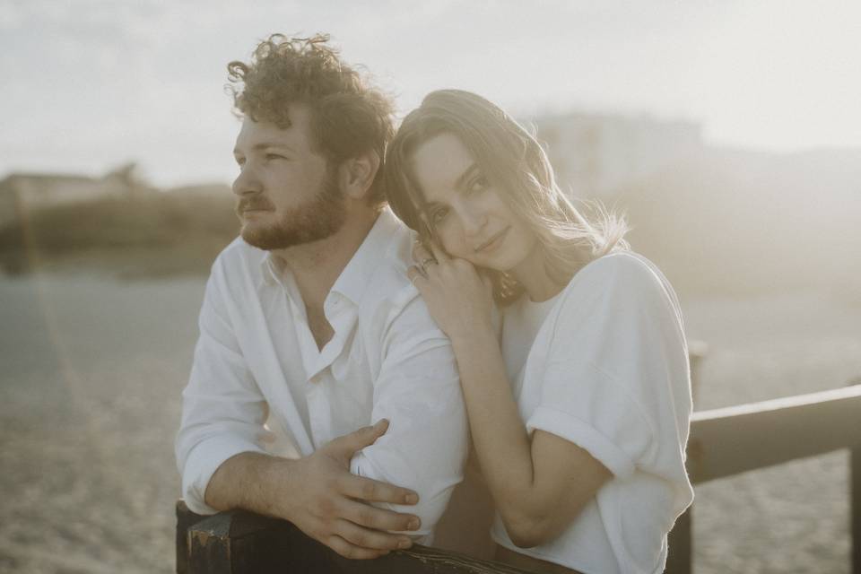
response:
[[[618,478],[637,467],[668,478],[683,472],[687,352],[674,294],[657,271],[633,256],[599,259],[575,276],[548,321],[527,430],[570,440]]]

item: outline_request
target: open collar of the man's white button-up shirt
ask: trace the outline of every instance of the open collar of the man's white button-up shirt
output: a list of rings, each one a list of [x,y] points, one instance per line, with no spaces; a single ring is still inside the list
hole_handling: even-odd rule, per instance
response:
[[[350,262],[344,267],[344,271],[338,276],[330,292],[343,295],[358,305],[365,289],[374,276],[374,271],[382,262],[381,254],[384,254],[391,244],[391,238],[398,228],[398,220],[388,206],[384,207],[370,229],[368,235],[353,254]],[[283,285],[282,277],[285,272],[289,273],[287,265],[278,257],[274,257],[271,251],[267,251],[260,262],[263,273],[263,281],[267,285]]]

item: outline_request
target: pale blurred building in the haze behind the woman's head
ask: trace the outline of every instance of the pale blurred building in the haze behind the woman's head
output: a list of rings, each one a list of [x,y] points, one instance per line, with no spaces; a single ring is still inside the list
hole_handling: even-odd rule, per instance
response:
[[[569,113],[537,117],[561,188],[572,196],[608,196],[702,148],[699,124],[652,117]]]

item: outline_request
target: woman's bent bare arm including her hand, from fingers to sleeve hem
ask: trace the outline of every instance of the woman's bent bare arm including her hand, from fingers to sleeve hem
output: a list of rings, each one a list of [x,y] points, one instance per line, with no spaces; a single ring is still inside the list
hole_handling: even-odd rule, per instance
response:
[[[410,276],[451,339],[483,474],[512,542],[543,544],[612,474],[569,440],[544,431],[530,439],[491,325],[488,286],[465,260],[435,255],[439,264]]]

